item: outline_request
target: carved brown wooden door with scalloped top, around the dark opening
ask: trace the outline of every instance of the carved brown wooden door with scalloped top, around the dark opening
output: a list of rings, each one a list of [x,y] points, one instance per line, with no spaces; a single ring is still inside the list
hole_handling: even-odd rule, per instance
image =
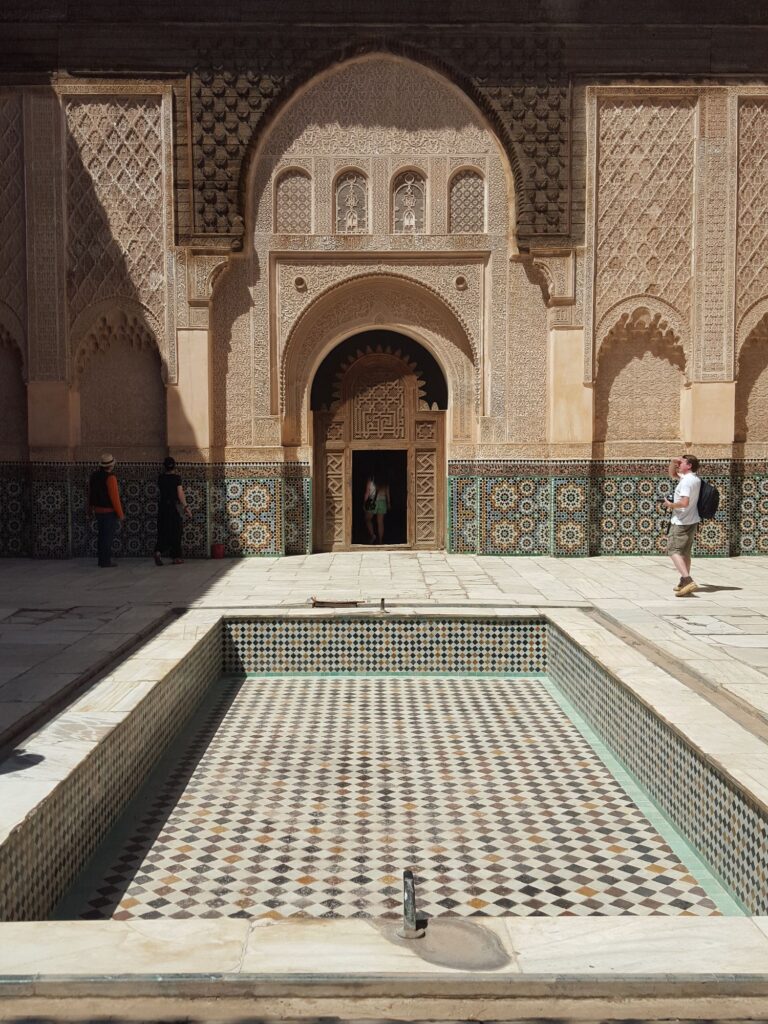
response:
[[[336,400],[314,414],[314,547],[352,547],[355,452],[407,454],[404,547],[443,546],[444,413],[420,408],[417,368],[399,353],[360,352],[343,368]]]

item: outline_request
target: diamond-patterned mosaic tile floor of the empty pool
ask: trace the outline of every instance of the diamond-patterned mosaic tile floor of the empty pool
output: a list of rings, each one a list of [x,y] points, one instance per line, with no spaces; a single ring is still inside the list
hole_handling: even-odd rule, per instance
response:
[[[738,913],[544,678],[224,679],[57,918]],[[608,767],[609,766],[609,767]]]

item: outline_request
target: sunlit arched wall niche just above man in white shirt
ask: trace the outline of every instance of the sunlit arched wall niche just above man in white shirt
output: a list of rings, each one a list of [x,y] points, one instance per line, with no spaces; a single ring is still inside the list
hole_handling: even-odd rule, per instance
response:
[[[685,353],[662,314],[623,312],[598,354],[595,441],[679,441],[684,383]]]

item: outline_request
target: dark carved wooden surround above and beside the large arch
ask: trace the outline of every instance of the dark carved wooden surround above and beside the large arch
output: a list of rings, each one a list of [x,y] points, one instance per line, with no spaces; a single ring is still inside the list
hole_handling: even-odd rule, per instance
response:
[[[191,220],[180,203],[181,231],[195,244],[238,247],[243,233],[245,167],[265,125],[287,97],[295,97],[324,68],[351,53],[387,51],[436,67],[459,83],[463,94],[482,105],[496,126],[515,174],[517,229],[525,243],[559,238],[570,230],[570,87],[562,40],[538,31],[497,34],[464,32],[444,36],[420,30],[409,36],[370,34],[354,38],[325,26],[311,41],[301,29],[258,36],[246,26],[237,43],[226,35],[206,38],[200,65],[189,80],[188,144],[191,152]],[[354,40],[354,41],[353,41]],[[396,78],[387,83],[406,91]],[[386,90],[383,90],[386,91]],[[419,99],[419,94],[413,94]],[[186,127],[186,126],[185,126]],[[343,123],[342,123],[343,127]],[[580,233],[582,217],[578,204]],[[515,222],[514,219],[512,221]],[[216,238],[218,236],[218,238]]]

